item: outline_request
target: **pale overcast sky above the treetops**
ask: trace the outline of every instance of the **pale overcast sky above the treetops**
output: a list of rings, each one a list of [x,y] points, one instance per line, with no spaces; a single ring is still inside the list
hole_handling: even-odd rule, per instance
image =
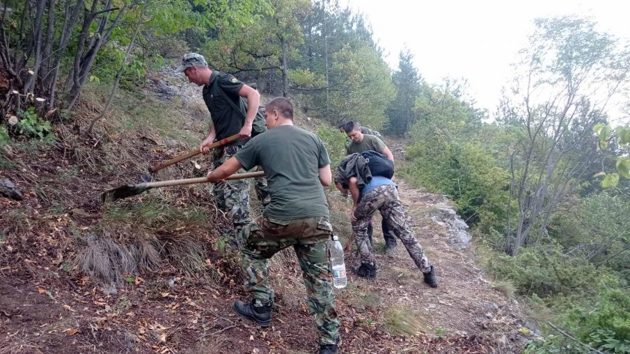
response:
[[[346,4],[367,17],[393,69],[406,45],[429,83],[468,79],[469,95],[491,113],[536,17],[592,16],[604,31],[630,38],[627,0],[340,0]]]

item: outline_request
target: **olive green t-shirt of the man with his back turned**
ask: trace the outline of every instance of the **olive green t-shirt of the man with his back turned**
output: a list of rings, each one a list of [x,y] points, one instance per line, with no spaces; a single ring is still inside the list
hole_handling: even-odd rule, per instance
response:
[[[260,165],[265,171],[271,202],[263,215],[281,220],[329,216],[320,168],[330,165],[330,158],[315,134],[281,125],[249,140],[235,157],[245,170]]]

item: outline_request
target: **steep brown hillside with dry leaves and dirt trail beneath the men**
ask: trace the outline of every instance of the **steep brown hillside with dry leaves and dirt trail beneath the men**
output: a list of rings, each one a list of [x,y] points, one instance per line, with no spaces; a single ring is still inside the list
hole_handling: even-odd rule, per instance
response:
[[[210,186],[97,202],[102,191],[139,182],[149,164],[198,146],[207,129],[200,89],[154,74],[144,89],[120,93],[90,135],[106,95],[86,90],[74,120],[56,122],[56,140],[15,140],[0,152],[0,179],[23,195],[0,197],[0,353],[313,353],[315,327],[292,250],[271,262],[273,325],[260,329],[233,312],[245,294]],[[324,124],[301,113],[296,122]],[[210,160],[157,177],[194,177],[196,164],[206,170]],[[519,353],[533,328],[475,264],[448,200],[399,183],[440,287],[423,283],[402,246],[386,257],[375,234],[379,276],[350,274],[337,293],[341,353]],[[351,204],[328,196],[336,233],[347,239]],[[358,262],[347,255],[347,266]]]

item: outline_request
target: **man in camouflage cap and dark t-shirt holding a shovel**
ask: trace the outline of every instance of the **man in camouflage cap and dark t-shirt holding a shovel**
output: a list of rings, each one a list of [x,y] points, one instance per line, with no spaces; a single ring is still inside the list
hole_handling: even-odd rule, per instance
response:
[[[218,168],[241,150],[251,136],[253,121],[260,104],[260,94],[230,74],[210,70],[203,56],[197,53],[186,54],[182,58],[182,65],[175,71],[184,72],[191,83],[203,86],[203,100],[210,111],[212,125],[210,134],[200,145],[201,152],[203,154],[210,152],[207,146],[215,140],[235,134],[240,136],[239,140],[214,150],[214,168]],[[246,107],[241,97],[247,99]],[[235,110],[236,107],[246,108],[244,119],[242,112]],[[255,189],[262,204],[268,204],[267,180],[256,179]],[[251,223],[248,179],[216,182],[212,194],[219,209],[226,212],[228,218],[232,220],[236,235],[245,225]]]

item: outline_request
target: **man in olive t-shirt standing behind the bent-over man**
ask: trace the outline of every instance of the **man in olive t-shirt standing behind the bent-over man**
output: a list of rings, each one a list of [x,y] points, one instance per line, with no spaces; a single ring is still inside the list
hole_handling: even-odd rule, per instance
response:
[[[355,154],[361,152],[365,152],[368,150],[374,150],[376,152],[380,152],[387,156],[387,159],[390,161],[394,161],[394,155],[391,153],[387,145],[383,143],[383,140],[379,139],[377,136],[372,134],[363,133],[363,128],[359,123],[356,122],[347,122],[343,124],[343,130],[347,134],[348,138],[351,139],[350,143],[346,147],[347,154]],[[370,129],[367,129],[373,133]],[[339,186],[337,186],[339,188]],[[343,188],[339,188],[341,193],[344,193]],[[387,223],[385,222],[385,216],[381,220],[381,230],[383,230],[383,237],[385,239],[385,253],[386,255],[391,255],[396,248],[396,237],[390,232]],[[368,238],[370,240],[370,245],[372,245],[372,234],[374,233],[374,228],[372,226],[372,220],[368,224]]]

